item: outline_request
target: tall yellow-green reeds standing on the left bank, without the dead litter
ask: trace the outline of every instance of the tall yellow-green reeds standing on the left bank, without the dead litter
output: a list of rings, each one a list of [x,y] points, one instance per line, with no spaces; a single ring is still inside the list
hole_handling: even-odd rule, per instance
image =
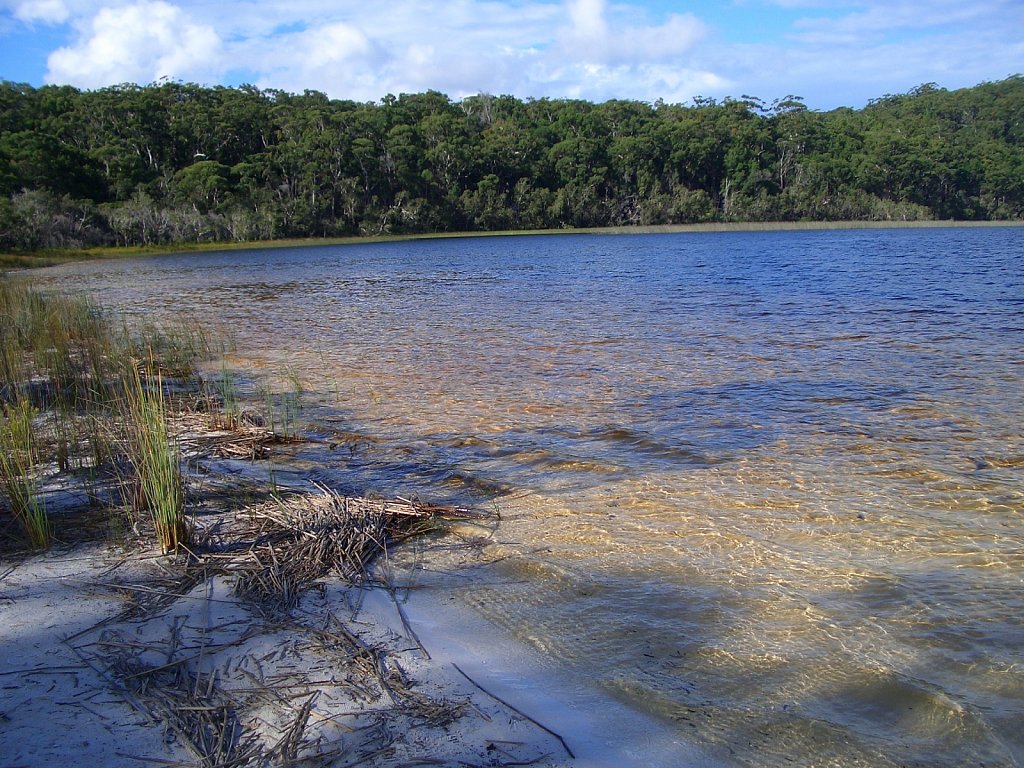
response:
[[[0,488],[27,544],[53,536],[38,484],[50,465],[114,472],[132,511],[152,514],[164,552],[186,544],[164,377],[187,381],[208,353],[199,329],[129,329],[86,298],[0,280]]]

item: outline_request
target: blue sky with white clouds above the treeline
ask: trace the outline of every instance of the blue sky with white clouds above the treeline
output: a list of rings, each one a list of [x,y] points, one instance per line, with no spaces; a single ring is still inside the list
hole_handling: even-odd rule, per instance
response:
[[[859,109],[1024,74],[1024,0],[0,0],[0,80]]]

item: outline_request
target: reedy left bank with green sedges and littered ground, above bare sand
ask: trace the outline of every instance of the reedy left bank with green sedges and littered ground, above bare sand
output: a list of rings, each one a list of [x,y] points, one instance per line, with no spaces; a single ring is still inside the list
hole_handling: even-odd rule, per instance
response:
[[[202,328],[130,328],[88,299],[0,276],[0,557],[77,541],[104,516],[197,556],[200,464],[302,439],[297,394],[243,407],[225,351]],[[219,372],[199,373],[216,358]],[[280,496],[272,471],[250,490]]]

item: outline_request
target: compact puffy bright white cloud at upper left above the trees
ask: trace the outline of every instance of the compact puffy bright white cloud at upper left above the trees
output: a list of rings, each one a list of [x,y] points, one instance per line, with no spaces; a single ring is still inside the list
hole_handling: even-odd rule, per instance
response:
[[[78,27],[78,41],[47,59],[48,82],[94,88],[164,77],[215,79],[219,74],[217,33],[163,0],[101,8]]]

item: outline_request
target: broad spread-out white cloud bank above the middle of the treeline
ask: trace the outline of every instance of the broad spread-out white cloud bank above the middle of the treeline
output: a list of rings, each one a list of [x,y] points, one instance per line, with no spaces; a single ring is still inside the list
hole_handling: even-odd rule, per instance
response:
[[[331,11],[305,0],[291,8],[261,4],[259,22],[242,14],[245,31],[230,28],[230,19],[216,23],[225,58],[254,73],[260,87],[355,100],[430,88],[456,98],[479,91],[597,98],[629,95],[641,82],[645,92],[637,97],[653,100],[665,95],[650,87],[656,83],[714,80],[692,75],[685,60],[705,33],[697,19],[674,14],[637,24],[636,6],[605,0],[393,0],[335,3]],[[290,29],[299,13],[303,28]],[[641,72],[652,65],[671,68],[657,78]]]

